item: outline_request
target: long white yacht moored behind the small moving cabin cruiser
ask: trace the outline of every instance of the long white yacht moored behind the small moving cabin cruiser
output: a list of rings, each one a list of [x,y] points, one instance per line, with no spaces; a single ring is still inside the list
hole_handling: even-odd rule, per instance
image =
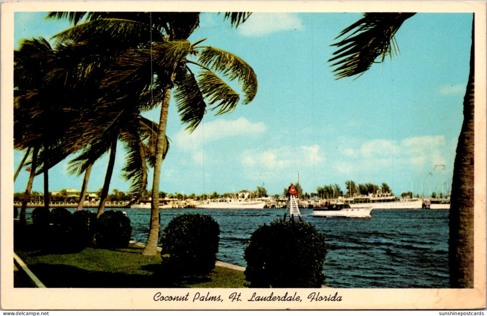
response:
[[[417,198],[399,199],[391,193],[378,193],[369,195],[358,195],[354,197],[345,198],[344,202],[350,204],[354,208],[375,209],[421,209],[423,208],[423,201]]]

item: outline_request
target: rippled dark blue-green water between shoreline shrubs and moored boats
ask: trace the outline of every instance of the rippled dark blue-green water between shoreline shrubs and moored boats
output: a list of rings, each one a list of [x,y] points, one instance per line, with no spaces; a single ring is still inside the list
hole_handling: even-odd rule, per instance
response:
[[[30,216],[27,210],[27,217]],[[74,211],[74,209],[70,209]],[[144,243],[147,209],[124,209],[132,239]],[[282,218],[285,210],[161,210],[161,230],[185,212],[211,215],[220,225],[220,261],[246,266],[244,249],[260,225]],[[370,218],[309,216],[303,220],[326,235],[325,284],[341,288],[448,288],[448,211],[373,210]],[[283,263],[285,264],[285,263]]]

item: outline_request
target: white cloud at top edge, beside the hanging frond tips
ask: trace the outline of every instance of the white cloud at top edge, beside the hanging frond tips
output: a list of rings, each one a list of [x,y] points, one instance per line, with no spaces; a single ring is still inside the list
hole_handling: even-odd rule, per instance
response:
[[[252,13],[238,28],[240,34],[245,36],[262,36],[279,31],[303,29],[304,26],[295,13]]]

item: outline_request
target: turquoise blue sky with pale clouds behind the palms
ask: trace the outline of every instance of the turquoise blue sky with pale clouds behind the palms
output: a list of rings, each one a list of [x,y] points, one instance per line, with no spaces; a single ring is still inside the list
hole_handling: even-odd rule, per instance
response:
[[[69,27],[45,13],[15,14],[14,38],[50,38]],[[386,182],[393,193],[425,194],[451,185],[455,148],[463,121],[472,14],[420,13],[396,34],[400,54],[375,64],[356,80],[334,80],[330,44],[360,18],[357,13],[254,13],[230,28],[223,15],[204,13],[194,42],[242,57],[257,74],[254,101],[213,116],[189,135],[171,102],[169,153],[160,190],[201,194],[255,190],[282,193],[300,175],[303,190],[344,182]],[[158,109],[144,114],[158,121]],[[204,137],[203,137],[204,136]],[[14,153],[17,167],[22,152]],[[108,158],[92,171],[89,189],[103,185]],[[68,161],[50,170],[50,191],[80,188]],[[443,164],[445,169],[435,168]],[[122,146],[117,150],[111,190],[127,191],[122,180]],[[429,175],[429,176],[428,176]],[[22,171],[14,191],[25,190]],[[42,191],[36,177],[34,191]],[[149,188],[151,184],[149,184]]]

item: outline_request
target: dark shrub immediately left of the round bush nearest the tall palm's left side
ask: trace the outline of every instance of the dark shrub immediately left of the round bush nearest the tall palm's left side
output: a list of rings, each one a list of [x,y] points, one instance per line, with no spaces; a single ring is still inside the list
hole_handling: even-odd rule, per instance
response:
[[[78,248],[91,244],[96,229],[96,213],[79,210],[73,213],[73,243]]]

